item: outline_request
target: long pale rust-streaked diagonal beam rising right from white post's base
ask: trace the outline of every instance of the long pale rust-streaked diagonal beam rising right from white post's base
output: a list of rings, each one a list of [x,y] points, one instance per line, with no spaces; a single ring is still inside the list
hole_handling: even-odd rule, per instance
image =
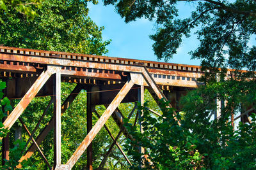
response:
[[[92,130],[89,132],[89,134],[84,138],[81,145],[77,148],[76,152],[70,157],[67,164],[70,165],[72,168],[74,164],[76,164],[77,160],[81,157],[81,155],[84,153],[84,150],[90,145],[92,140],[95,138],[97,133],[100,131],[100,129],[103,127],[103,125],[107,122],[108,118],[112,115],[113,111],[116,110],[117,106],[121,103],[121,101],[124,99],[126,94],[131,90],[132,86],[134,84],[132,81],[127,81],[125,83],[124,87],[120,90],[120,92],[117,94],[115,99],[109,104],[106,111],[104,111],[103,115],[99,118],[97,123],[93,126]]]

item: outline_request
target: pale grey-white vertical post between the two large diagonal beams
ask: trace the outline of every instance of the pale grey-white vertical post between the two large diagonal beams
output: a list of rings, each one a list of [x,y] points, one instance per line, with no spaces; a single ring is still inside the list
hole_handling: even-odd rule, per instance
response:
[[[61,165],[61,74],[54,78],[54,168]]]

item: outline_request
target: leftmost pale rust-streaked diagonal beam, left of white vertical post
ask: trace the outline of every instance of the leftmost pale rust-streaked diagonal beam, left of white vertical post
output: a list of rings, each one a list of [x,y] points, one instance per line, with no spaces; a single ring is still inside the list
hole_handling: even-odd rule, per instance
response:
[[[33,83],[28,92],[24,97],[20,100],[19,104],[14,108],[12,113],[6,118],[4,121],[4,127],[6,129],[10,129],[15,121],[20,117],[22,112],[26,109],[28,104],[32,101],[32,99],[36,96],[38,91],[43,87],[45,82],[50,78],[50,76],[54,73],[53,69],[47,69],[43,71],[42,74],[38,77],[38,79]],[[0,138],[2,139],[2,138]]]

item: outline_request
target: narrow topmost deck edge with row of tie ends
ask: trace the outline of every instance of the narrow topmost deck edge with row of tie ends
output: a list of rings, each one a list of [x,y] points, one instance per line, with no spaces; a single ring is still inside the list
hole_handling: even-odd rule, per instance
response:
[[[50,51],[44,51],[44,50],[32,50],[32,49],[15,48],[15,47],[8,47],[8,46],[0,46],[0,53],[24,55],[24,57],[33,55],[34,57],[44,57],[44,58],[52,58],[52,59],[88,60],[93,62],[106,62],[106,63],[115,63],[115,64],[148,66],[150,68],[157,68],[157,69],[163,69],[163,70],[173,69],[173,70],[180,70],[180,71],[191,71],[191,72],[193,71],[195,73],[201,72],[200,66],[193,66],[188,64],[174,64],[174,63],[166,63],[166,62],[124,59],[124,58],[118,58],[118,57],[106,57],[106,56],[99,56],[99,55],[86,55],[86,54],[68,53],[68,52],[50,52]]]

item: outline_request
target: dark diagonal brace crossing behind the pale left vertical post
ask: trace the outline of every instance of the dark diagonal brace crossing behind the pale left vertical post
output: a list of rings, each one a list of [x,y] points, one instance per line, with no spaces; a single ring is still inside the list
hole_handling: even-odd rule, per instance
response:
[[[67,108],[70,106],[70,104],[72,103],[72,101],[74,101],[74,99],[76,98],[76,96],[79,94],[79,92],[81,91],[82,86],[81,85],[76,85],[76,87],[74,88],[74,90],[72,90],[72,92],[70,93],[70,95],[67,97],[67,99],[64,101],[64,103],[61,106],[61,114],[63,114]],[[44,141],[45,137],[47,136],[47,134],[51,131],[51,129],[54,127],[54,120],[53,118],[48,122],[48,124],[45,126],[45,128],[43,129],[42,132],[40,132],[40,134],[38,135],[38,137],[36,138],[36,143],[38,143],[38,145],[40,145],[40,143],[42,143],[42,141]],[[28,151],[26,152],[26,154],[21,157],[21,159],[19,160],[20,162],[24,159],[28,159],[29,157],[31,157],[33,155],[33,153],[36,150],[36,145],[33,144],[29,147]]]

